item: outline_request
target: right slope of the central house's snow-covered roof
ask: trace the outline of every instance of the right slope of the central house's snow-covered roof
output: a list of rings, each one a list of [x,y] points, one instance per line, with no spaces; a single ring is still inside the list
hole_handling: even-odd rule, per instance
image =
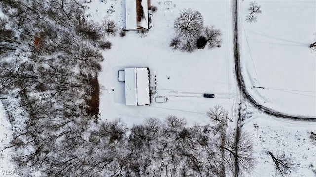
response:
[[[149,105],[149,71],[148,68],[136,68],[137,105]]]

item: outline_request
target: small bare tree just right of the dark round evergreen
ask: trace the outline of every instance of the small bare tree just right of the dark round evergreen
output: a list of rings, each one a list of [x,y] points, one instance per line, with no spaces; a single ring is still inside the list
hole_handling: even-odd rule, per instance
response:
[[[220,47],[222,43],[222,31],[215,29],[215,26],[206,26],[204,29],[205,38],[208,43],[208,48]]]

